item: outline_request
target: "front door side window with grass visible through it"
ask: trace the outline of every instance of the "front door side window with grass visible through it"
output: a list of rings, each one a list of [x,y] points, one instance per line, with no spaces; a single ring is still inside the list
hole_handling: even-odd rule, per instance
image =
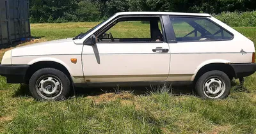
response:
[[[118,19],[96,37],[98,43],[163,41],[161,23],[158,17]]]

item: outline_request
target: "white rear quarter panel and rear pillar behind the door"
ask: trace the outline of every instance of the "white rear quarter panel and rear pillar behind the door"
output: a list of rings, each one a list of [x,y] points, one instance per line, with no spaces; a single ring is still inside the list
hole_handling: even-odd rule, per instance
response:
[[[208,19],[230,31],[234,38],[222,41],[169,43],[171,62],[168,81],[194,80],[197,71],[206,64],[252,62],[252,54],[255,52],[252,41],[220,20],[214,17]]]

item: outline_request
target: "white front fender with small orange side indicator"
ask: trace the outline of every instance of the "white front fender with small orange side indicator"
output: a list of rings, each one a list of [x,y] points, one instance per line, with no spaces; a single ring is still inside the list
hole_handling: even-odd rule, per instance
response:
[[[12,50],[12,64],[34,64],[40,61],[60,63],[69,71],[74,83],[84,82],[82,69],[83,45],[76,45],[72,38],[26,45]],[[77,62],[72,63],[71,58]]]

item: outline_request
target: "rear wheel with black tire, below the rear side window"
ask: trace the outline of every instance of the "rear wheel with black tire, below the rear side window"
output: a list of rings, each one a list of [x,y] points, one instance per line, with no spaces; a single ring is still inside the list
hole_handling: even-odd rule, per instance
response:
[[[208,71],[198,78],[195,91],[198,96],[204,99],[223,99],[227,98],[230,93],[230,83],[230,78],[223,71]],[[218,88],[222,90],[218,90]],[[216,91],[216,94],[214,94],[214,91]]]

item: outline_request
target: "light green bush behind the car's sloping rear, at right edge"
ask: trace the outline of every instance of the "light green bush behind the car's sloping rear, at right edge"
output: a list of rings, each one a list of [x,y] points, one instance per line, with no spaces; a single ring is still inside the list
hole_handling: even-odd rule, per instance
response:
[[[255,27],[256,26],[256,11],[246,12],[222,12],[218,15],[213,15],[228,26],[232,27]]]

